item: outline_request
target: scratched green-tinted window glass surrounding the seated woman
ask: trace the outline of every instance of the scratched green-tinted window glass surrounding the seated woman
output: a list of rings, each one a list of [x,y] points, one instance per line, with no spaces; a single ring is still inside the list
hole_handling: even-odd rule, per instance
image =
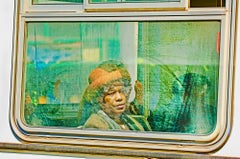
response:
[[[80,104],[88,76],[109,60],[131,75],[128,103],[139,94],[135,81],[141,83],[142,103],[126,111],[143,117],[140,124],[192,134],[216,126],[219,21],[29,22],[26,36],[21,109],[29,126],[84,126],[91,115]]]

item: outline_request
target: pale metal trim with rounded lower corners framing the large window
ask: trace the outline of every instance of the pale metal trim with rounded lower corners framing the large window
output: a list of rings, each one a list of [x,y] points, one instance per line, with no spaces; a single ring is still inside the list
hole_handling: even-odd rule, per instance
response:
[[[234,1],[235,2],[235,1]],[[234,3],[235,4],[235,3]],[[233,5],[234,6],[234,5]],[[235,13],[235,10],[234,10]],[[181,16],[153,16],[146,14],[146,16],[136,16],[135,14],[127,13],[122,17],[111,17],[109,14],[104,16],[69,16],[67,19],[65,16],[57,17],[32,17],[21,16],[19,20],[16,20],[16,33],[15,33],[15,48],[13,55],[13,80],[12,80],[12,105],[10,122],[14,133],[23,141],[31,143],[48,143],[48,144],[67,144],[70,147],[76,145],[85,146],[100,146],[100,147],[120,147],[120,148],[139,148],[141,150],[174,150],[183,152],[211,152],[219,148],[227,139],[230,127],[231,127],[231,84],[232,84],[232,69],[229,64],[232,64],[233,54],[233,39],[234,39],[234,27],[231,21],[231,17],[228,15],[184,15]],[[93,14],[94,15],[94,14]],[[18,16],[16,16],[18,17]],[[110,18],[109,18],[110,17]],[[234,19],[234,18],[233,18]],[[219,88],[219,103],[220,109],[218,114],[218,124],[216,131],[209,136],[196,136],[196,135],[182,135],[182,134],[165,134],[162,133],[158,136],[151,137],[154,133],[141,134],[129,132],[127,135],[119,136],[119,132],[106,132],[106,131],[79,131],[78,129],[66,129],[66,128],[34,128],[28,127],[22,120],[21,105],[22,105],[22,78],[23,78],[23,56],[24,56],[24,43],[25,43],[25,29],[27,22],[42,22],[42,21],[133,21],[133,20],[149,20],[149,21],[175,21],[175,20],[219,20],[221,21],[221,58],[220,66],[224,69],[220,70],[220,75],[223,75],[223,79],[220,79]],[[229,32],[231,30],[231,32]],[[230,45],[229,45],[230,44]],[[17,48],[16,48],[17,47]],[[230,68],[229,68],[230,67]],[[58,133],[61,132],[61,133]],[[81,136],[82,135],[82,136]],[[138,137],[135,137],[138,135]],[[130,138],[128,140],[127,138]],[[150,140],[150,141],[147,141]],[[95,142],[97,141],[97,143]]]

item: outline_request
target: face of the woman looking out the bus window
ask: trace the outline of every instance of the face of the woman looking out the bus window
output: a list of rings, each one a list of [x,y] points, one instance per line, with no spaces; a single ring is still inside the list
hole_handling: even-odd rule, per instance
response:
[[[126,110],[127,97],[122,83],[112,84],[104,93],[103,111],[111,117],[120,116]]]

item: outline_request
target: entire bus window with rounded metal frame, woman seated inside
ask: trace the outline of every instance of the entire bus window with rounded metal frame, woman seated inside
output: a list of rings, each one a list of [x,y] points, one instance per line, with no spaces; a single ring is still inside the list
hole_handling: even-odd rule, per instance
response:
[[[199,4],[17,3],[13,131],[25,142],[216,150],[231,127],[235,2]]]

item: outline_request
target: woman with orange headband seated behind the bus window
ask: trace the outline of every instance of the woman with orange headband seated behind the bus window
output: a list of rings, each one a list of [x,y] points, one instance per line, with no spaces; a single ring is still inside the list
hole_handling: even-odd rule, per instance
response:
[[[101,130],[151,130],[147,120],[134,118],[129,110],[131,77],[121,62],[107,61],[94,69],[81,102],[80,124]]]

